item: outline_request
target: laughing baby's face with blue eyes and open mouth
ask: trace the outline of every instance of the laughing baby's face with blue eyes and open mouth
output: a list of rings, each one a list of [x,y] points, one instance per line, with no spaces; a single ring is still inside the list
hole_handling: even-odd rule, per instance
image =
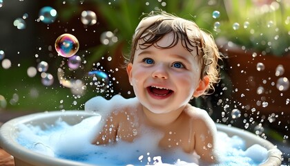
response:
[[[173,34],[168,34],[157,45],[168,46],[172,41]],[[196,48],[190,53],[181,42],[166,49],[137,49],[127,71],[139,102],[154,113],[183,108],[202,81],[196,54]]]

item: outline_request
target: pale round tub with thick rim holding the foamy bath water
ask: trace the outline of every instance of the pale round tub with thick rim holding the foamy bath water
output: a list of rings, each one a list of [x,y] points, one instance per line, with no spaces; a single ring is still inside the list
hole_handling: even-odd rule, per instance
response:
[[[77,124],[84,118],[91,116],[91,114],[85,111],[48,111],[44,113],[32,113],[27,116],[21,116],[14,118],[0,128],[0,147],[6,150],[9,154],[14,156],[14,163],[16,166],[51,166],[51,165],[70,165],[70,166],[89,166],[86,163],[79,163],[72,160],[65,160],[61,158],[53,158],[51,156],[45,156],[37,152],[31,151],[19,145],[16,141],[17,138],[17,125],[19,124],[32,124],[43,126],[43,122],[46,124],[54,124],[55,121],[61,117],[68,124]],[[247,147],[253,144],[259,144],[269,150],[267,160],[262,164],[263,166],[278,166],[281,165],[282,156],[280,150],[276,148],[268,140],[264,140],[249,131],[244,131],[235,127],[228,127],[224,124],[216,124],[218,131],[223,131],[229,136],[239,136],[247,143]],[[90,165],[91,166],[91,165]]]

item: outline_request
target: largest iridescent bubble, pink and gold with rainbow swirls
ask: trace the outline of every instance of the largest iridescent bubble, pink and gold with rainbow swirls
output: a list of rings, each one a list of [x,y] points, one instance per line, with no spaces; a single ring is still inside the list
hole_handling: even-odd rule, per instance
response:
[[[57,37],[55,50],[62,57],[71,57],[79,50],[79,41],[74,35],[65,33]]]

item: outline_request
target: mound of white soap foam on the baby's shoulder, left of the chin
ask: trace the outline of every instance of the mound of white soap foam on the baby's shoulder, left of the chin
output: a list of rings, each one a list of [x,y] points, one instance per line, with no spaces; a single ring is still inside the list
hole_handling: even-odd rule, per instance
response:
[[[118,113],[119,111],[132,110],[137,107],[137,98],[123,98],[122,95],[114,95],[110,100],[106,100],[101,96],[91,98],[85,103],[86,112],[99,113],[108,115],[110,113]]]

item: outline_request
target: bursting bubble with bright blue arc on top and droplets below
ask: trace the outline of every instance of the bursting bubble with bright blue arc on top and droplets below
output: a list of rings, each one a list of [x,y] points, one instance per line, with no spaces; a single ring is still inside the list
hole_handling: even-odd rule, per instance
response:
[[[109,77],[104,71],[90,71],[88,72],[89,84],[96,86],[97,92],[104,92],[109,84]]]

